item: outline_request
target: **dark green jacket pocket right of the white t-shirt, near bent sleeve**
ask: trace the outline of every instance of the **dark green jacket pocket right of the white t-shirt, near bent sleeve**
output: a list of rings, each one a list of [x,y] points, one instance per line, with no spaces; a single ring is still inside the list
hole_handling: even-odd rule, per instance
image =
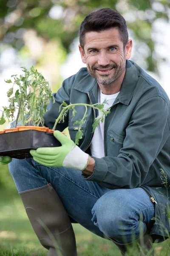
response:
[[[107,132],[107,156],[117,157],[123,147],[125,136],[119,135],[116,131],[108,129]]]

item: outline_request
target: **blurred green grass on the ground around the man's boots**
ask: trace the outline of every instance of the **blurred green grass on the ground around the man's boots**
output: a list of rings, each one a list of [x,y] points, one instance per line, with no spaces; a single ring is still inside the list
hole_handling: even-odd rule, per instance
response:
[[[26,215],[8,172],[0,166],[0,256],[47,256]],[[102,239],[79,224],[73,224],[78,256],[121,256],[113,242]],[[170,255],[170,241],[155,244],[157,256]],[[136,256],[132,249],[129,256]],[[149,256],[149,254],[144,254]]]

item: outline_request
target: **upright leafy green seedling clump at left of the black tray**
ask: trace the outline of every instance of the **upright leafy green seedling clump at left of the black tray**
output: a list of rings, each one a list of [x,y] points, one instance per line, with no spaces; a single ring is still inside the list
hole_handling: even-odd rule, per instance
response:
[[[11,79],[6,80],[6,83],[13,83],[12,87],[7,92],[8,107],[3,107],[2,116],[0,118],[0,125],[6,122],[6,119],[14,120],[14,113],[17,112],[17,123],[22,120],[22,125],[39,126],[44,125],[44,113],[47,111],[47,105],[49,99],[53,99],[51,89],[48,81],[44,79],[41,73],[37,72],[34,67],[30,70],[23,68],[23,75],[17,77],[12,75],[14,82]],[[14,92],[14,87],[17,86],[17,90]],[[25,115],[25,117],[24,117]]]

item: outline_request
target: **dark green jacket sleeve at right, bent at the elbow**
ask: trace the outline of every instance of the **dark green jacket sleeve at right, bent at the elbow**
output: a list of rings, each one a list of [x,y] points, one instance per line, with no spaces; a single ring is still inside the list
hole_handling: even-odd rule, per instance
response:
[[[96,181],[109,189],[141,186],[169,137],[168,115],[167,102],[160,96],[149,98],[138,105],[129,120],[119,155],[94,157],[94,172],[84,179]]]

